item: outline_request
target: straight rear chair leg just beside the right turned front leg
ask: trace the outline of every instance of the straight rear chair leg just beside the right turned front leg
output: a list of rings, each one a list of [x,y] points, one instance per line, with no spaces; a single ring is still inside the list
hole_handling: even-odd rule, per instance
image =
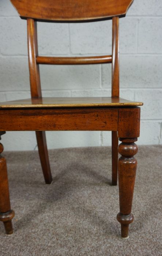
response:
[[[117,185],[118,168],[118,137],[117,132],[112,131],[112,185]]]

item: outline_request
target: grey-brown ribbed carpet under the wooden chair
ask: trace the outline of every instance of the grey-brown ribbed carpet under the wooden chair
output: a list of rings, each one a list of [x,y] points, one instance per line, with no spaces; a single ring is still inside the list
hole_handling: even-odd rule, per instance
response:
[[[141,146],[129,239],[120,238],[110,147],[50,150],[45,185],[37,151],[4,153],[14,234],[0,223],[0,256],[162,255],[162,146]]]

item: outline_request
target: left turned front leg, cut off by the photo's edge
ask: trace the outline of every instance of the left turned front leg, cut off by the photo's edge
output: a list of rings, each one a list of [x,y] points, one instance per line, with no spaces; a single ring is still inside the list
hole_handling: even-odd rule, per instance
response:
[[[2,152],[3,145],[0,143],[0,154]],[[4,223],[6,234],[13,233],[11,219],[14,215],[14,211],[10,207],[6,161],[0,155],[0,221]]]

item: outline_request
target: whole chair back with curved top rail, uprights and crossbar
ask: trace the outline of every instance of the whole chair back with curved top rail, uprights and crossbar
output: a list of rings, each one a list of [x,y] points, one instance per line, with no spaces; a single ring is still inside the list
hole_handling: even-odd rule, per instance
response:
[[[41,98],[39,64],[112,63],[112,97],[119,97],[119,18],[133,0],[11,0],[22,19],[27,19],[30,88],[32,98]],[[46,57],[38,55],[37,21],[89,22],[112,19],[112,55]]]

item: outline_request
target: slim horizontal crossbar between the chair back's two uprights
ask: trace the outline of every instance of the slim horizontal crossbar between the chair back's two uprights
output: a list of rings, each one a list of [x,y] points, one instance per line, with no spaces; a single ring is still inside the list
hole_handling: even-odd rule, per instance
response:
[[[93,57],[45,57],[37,56],[37,64],[52,65],[82,65],[82,64],[101,64],[112,63],[112,56],[93,56]]]

